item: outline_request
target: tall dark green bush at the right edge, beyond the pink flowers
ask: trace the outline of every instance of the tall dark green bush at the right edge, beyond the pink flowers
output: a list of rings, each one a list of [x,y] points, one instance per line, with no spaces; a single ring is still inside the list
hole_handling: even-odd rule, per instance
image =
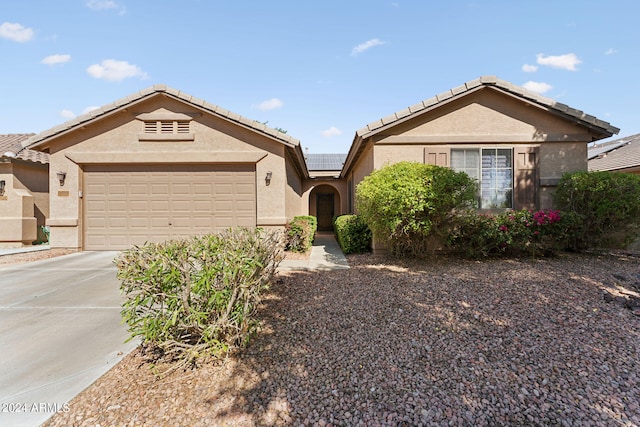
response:
[[[621,247],[640,235],[640,176],[616,172],[563,175],[554,193],[558,209],[578,219],[574,250]]]

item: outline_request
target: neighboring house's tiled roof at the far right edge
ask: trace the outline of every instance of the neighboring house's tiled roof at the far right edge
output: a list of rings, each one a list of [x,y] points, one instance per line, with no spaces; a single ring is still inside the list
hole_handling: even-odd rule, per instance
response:
[[[589,170],[640,175],[640,134],[589,147]]]

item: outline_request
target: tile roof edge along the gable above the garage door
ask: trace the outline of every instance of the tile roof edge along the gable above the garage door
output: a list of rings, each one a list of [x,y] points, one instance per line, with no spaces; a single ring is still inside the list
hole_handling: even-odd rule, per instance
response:
[[[229,110],[225,110],[224,108],[218,105],[210,104],[202,99],[196,98],[194,96],[191,96],[179,90],[173,89],[166,85],[154,85],[146,89],[143,89],[137,93],[129,95],[126,98],[122,98],[111,104],[104,105],[96,110],[92,110],[88,112],[87,114],[83,114],[82,116],[78,116],[59,126],[53,127],[37,135],[34,135],[29,139],[23,141],[22,145],[24,147],[37,146],[39,143],[47,140],[48,138],[66,133],[67,131],[70,131],[71,129],[77,126],[85,125],[87,122],[91,122],[93,120],[99,119],[100,117],[108,113],[114,112],[121,108],[126,108],[126,106],[130,104],[137,103],[139,101],[142,101],[146,98],[149,98],[151,96],[154,96],[160,93],[180,99],[183,102],[191,104],[196,108],[205,110],[213,115],[223,117],[229,121],[236,122],[245,127],[249,127],[259,133],[275,138],[288,146],[300,145],[300,141],[291,137],[290,135],[279,132],[256,120],[247,119],[245,117],[240,116],[239,114],[235,114]]]

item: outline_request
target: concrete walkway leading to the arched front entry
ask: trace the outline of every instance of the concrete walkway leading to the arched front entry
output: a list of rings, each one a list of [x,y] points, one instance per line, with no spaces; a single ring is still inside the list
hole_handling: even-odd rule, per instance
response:
[[[308,260],[285,260],[279,271],[332,271],[349,268],[349,262],[342,253],[333,233],[316,233]]]

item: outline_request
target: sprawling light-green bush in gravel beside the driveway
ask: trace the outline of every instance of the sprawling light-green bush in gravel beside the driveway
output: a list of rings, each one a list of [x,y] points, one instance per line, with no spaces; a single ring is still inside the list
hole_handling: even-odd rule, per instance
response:
[[[122,252],[115,264],[131,338],[190,362],[245,346],[281,259],[280,233],[248,228]]]

